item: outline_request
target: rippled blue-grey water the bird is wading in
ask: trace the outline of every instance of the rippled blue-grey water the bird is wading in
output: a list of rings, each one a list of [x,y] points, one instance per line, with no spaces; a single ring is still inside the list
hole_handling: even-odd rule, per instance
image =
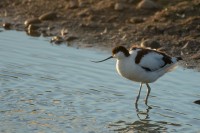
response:
[[[146,88],[121,78],[109,53],[0,32],[0,132],[200,132],[200,73],[178,68]]]

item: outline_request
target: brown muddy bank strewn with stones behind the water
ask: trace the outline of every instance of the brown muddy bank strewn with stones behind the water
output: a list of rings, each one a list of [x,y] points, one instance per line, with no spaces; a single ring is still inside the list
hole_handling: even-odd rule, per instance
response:
[[[0,27],[52,37],[55,45],[110,50],[142,45],[200,68],[198,0],[4,0]]]

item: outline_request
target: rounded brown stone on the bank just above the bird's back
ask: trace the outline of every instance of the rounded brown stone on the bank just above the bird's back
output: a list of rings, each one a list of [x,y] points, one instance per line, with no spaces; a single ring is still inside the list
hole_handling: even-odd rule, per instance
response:
[[[161,47],[159,42],[150,39],[143,40],[140,45],[141,47],[150,47],[152,49],[158,49]]]

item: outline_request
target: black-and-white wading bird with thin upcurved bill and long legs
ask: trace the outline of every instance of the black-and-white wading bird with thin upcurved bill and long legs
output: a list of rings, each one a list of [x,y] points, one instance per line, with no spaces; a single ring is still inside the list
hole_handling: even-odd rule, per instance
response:
[[[148,83],[156,81],[165,73],[172,71],[181,57],[170,57],[167,54],[142,47],[132,47],[129,51],[123,46],[117,46],[112,50],[112,56],[101,60],[93,61],[95,63],[103,62],[110,58],[116,58],[116,69],[119,75],[129,80],[140,82],[139,94],[136,103],[140,97],[140,91],[143,84],[147,86],[147,95],[145,103],[147,104],[151,88]]]

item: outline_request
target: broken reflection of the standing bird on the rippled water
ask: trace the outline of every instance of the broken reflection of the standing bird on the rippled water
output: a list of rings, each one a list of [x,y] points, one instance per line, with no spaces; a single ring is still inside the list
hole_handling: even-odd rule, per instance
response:
[[[111,125],[115,129],[114,131],[117,132],[167,132],[169,126],[175,126],[180,127],[181,124],[177,122],[170,122],[167,120],[156,120],[155,116],[150,116],[154,109],[160,109],[159,106],[156,105],[149,105],[145,104],[145,106],[142,106],[141,104],[138,104],[135,102],[133,104],[135,107],[133,110],[134,115],[137,116],[137,120],[135,118],[132,120],[132,122],[127,122],[126,120],[119,120],[115,124]],[[169,110],[169,109],[164,109]],[[153,113],[157,114],[157,113]],[[168,117],[169,118],[169,117]]]

